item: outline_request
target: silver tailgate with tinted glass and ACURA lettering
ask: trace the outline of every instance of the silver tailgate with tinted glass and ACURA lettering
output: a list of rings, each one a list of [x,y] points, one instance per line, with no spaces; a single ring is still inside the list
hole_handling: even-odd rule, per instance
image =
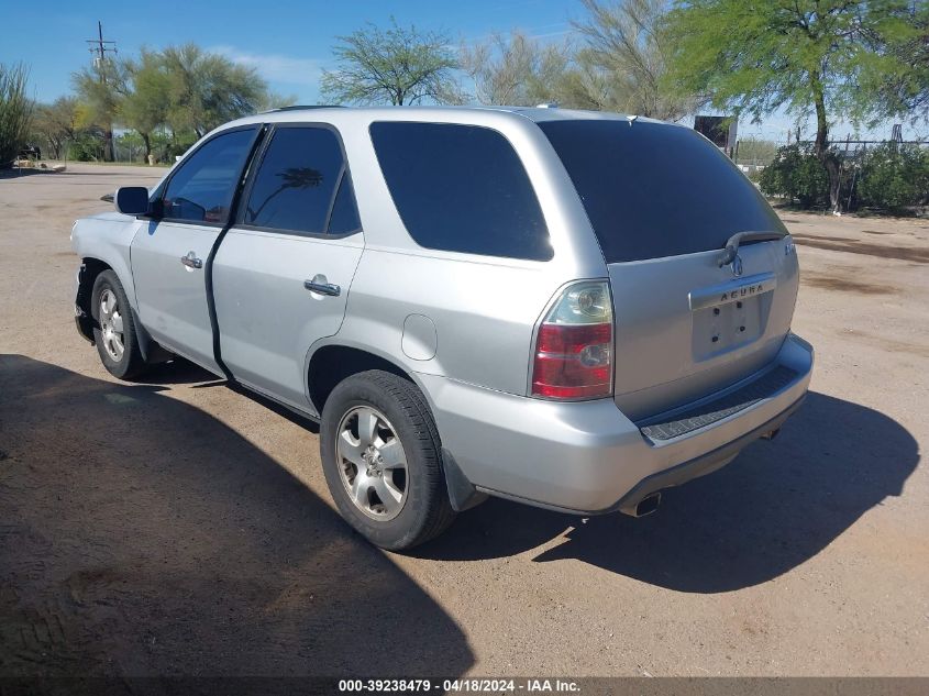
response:
[[[690,129],[649,121],[540,123],[582,198],[609,269],[617,405],[643,418],[771,363],[790,328],[789,237],[740,247],[743,231],[786,234],[745,176]]]

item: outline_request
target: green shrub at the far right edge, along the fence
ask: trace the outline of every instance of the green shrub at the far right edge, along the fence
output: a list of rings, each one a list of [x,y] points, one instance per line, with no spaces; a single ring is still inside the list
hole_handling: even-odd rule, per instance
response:
[[[887,143],[862,156],[855,185],[859,205],[886,210],[929,202],[929,151]]]

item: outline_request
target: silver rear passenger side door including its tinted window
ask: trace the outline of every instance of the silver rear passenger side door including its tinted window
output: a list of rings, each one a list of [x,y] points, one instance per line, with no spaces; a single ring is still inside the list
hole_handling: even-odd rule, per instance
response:
[[[306,356],[339,331],[364,248],[334,129],[279,124],[213,262],[220,352],[236,379],[307,409]]]

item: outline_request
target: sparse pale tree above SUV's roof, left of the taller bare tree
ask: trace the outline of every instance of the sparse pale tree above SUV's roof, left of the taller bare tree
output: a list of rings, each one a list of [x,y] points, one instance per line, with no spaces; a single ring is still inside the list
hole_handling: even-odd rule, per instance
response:
[[[474,99],[478,103],[598,107],[567,44],[542,44],[515,30],[509,36],[494,34],[475,46],[463,46],[461,66],[474,82]],[[468,96],[464,90],[461,92],[460,101],[467,101]]]

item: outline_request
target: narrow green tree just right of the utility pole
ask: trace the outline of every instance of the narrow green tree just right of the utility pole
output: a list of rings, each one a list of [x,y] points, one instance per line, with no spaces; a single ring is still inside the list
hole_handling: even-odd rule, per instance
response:
[[[147,158],[152,133],[167,121],[170,76],[162,55],[144,48],[137,60],[124,63],[124,69],[128,88],[120,103],[120,121],[142,137]]]

